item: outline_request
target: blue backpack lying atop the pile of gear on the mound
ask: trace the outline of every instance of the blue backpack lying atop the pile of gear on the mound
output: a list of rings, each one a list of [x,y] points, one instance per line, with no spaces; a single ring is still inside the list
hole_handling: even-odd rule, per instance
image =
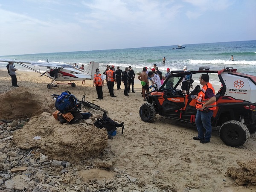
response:
[[[55,102],[55,108],[61,113],[67,113],[71,109],[77,109],[76,97],[72,95],[69,91],[64,91],[58,96]]]

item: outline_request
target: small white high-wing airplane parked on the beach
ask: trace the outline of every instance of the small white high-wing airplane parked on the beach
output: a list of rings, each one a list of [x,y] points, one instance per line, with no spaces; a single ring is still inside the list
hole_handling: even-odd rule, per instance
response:
[[[99,68],[99,63],[94,61],[90,62],[86,70],[81,70],[71,65],[60,65],[60,64],[48,63],[48,62],[20,61],[15,59],[12,60],[12,59],[4,59],[4,58],[0,58],[0,62],[17,63],[32,71],[40,73],[41,76],[49,77],[50,79],[52,79],[52,82],[47,84],[48,89],[52,89],[52,87],[56,87],[57,84],[71,84],[71,87],[76,87],[76,84],[72,83],[71,81],[93,80],[94,73],[96,69]],[[47,70],[44,73],[41,73],[40,71],[35,70],[32,67],[29,67],[27,64],[47,67]],[[70,83],[57,83],[54,85],[55,81],[70,81]]]

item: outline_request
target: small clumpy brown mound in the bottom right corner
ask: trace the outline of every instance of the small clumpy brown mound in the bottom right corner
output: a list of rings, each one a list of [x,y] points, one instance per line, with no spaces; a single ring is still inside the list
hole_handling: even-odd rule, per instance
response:
[[[251,161],[238,161],[240,167],[227,168],[227,175],[232,177],[239,185],[256,185],[256,159]]]

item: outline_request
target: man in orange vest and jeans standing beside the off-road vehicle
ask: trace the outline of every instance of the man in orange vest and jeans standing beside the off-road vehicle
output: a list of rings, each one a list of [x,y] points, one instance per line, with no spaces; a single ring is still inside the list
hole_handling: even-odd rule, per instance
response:
[[[216,109],[215,90],[209,83],[209,75],[202,74],[199,78],[200,84],[203,86],[198,96],[195,108],[197,109],[195,124],[198,129],[198,137],[194,140],[200,140],[200,143],[209,143],[212,136],[211,118],[213,110]],[[204,134],[204,129],[205,134]]]

